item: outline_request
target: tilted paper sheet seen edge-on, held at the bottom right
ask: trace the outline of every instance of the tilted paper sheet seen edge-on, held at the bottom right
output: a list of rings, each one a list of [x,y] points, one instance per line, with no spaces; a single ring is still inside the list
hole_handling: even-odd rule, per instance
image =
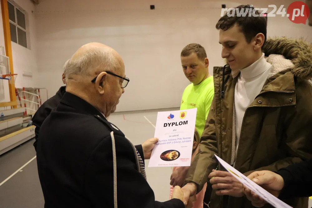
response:
[[[237,180],[241,181],[244,186],[248,187],[251,191],[256,193],[258,196],[260,196],[262,199],[270,203],[272,206],[276,208],[292,208],[291,206],[287,205],[285,202],[281,201],[280,199],[276,198],[272,194],[270,194],[268,191],[263,189],[261,186],[257,185],[255,182],[251,181],[249,178],[247,178],[244,174],[237,171],[234,167],[229,165],[227,162],[222,160],[220,157],[215,155],[217,159],[219,160],[220,164],[228,171],[230,172]]]

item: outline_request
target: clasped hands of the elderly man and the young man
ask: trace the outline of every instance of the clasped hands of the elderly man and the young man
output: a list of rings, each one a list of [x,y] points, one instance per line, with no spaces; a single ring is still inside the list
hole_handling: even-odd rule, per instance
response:
[[[174,186],[172,199],[179,199],[183,201],[186,208],[192,208],[193,202],[196,201],[196,185],[188,183],[183,188],[180,186]]]

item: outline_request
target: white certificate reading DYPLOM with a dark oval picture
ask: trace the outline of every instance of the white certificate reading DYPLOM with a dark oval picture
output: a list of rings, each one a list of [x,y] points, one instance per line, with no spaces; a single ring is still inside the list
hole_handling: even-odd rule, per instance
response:
[[[158,112],[148,167],[190,166],[197,108]]]

